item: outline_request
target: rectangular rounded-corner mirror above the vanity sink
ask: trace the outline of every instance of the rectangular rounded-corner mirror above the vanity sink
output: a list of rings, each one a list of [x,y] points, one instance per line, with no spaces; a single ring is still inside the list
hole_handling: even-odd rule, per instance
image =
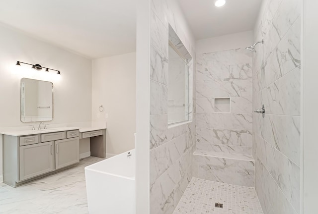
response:
[[[20,120],[22,122],[53,119],[53,83],[22,78],[20,84]]]

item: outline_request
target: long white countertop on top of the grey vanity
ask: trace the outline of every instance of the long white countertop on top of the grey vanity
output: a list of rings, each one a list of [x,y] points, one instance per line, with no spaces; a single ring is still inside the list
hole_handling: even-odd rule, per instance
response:
[[[51,133],[51,132],[60,132],[60,131],[70,131],[77,130],[79,132],[88,132],[88,131],[96,131],[101,129],[106,129],[104,126],[96,126],[96,127],[56,127],[56,128],[48,128],[48,129],[40,129],[40,130],[14,130],[14,129],[0,129],[0,134],[11,135],[11,136],[22,136],[22,135],[33,135],[33,134],[43,134],[43,133]]]

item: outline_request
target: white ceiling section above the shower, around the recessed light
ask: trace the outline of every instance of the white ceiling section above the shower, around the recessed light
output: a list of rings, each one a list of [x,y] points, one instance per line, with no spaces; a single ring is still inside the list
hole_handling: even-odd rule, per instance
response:
[[[196,40],[252,30],[262,0],[178,0]]]

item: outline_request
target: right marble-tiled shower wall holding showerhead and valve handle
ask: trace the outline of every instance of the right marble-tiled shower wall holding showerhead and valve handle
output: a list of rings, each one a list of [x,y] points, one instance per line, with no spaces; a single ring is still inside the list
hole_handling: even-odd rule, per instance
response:
[[[266,214],[300,213],[301,0],[262,3],[253,54],[255,188]]]

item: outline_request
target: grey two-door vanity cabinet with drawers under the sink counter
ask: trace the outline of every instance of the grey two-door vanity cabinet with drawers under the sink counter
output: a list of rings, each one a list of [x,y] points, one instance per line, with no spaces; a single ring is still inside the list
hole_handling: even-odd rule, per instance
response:
[[[16,187],[79,162],[79,130],[3,135],[3,182]]]

